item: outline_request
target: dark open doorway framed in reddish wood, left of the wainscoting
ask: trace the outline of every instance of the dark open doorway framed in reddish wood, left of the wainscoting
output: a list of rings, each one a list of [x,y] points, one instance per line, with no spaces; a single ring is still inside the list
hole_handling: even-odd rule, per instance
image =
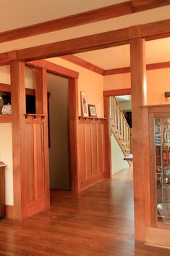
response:
[[[47,73],[47,90],[50,188],[69,191],[69,80]]]

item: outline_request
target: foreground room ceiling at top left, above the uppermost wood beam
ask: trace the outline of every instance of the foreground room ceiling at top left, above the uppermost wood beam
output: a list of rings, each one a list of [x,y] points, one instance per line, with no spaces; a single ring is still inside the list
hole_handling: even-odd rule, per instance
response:
[[[1,0],[0,31],[86,12],[124,0]],[[126,0],[125,0],[126,1]]]

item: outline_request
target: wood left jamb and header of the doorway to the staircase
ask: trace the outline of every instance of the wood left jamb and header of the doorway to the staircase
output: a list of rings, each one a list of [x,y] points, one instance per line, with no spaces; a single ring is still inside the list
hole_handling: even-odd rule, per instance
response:
[[[109,129],[109,97],[118,95],[131,95],[131,88],[125,89],[112,89],[103,91],[103,106],[104,106],[104,117],[106,122],[104,125],[105,130],[105,148],[106,148],[106,173],[107,177],[111,178],[111,136]]]

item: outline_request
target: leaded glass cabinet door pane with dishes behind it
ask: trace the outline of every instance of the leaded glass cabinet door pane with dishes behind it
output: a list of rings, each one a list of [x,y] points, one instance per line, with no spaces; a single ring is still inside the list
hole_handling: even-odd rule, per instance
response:
[[[157,220],[170,224],[170,117],[154,119]]]

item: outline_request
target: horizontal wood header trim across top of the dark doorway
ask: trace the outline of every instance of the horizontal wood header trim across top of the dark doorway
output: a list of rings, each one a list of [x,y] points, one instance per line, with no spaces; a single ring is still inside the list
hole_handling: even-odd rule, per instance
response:
[[[61,65],[51,63],[47,60],[34,60],[26,63],[26,65],[30,68],[46,68],[48,73],[53,73],[55,75],[59,75],[67,79],[78,79],[79,77],[78,72],[72,71],[69,68],[64,68]]]

